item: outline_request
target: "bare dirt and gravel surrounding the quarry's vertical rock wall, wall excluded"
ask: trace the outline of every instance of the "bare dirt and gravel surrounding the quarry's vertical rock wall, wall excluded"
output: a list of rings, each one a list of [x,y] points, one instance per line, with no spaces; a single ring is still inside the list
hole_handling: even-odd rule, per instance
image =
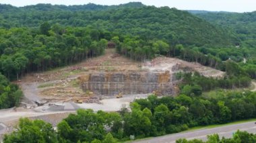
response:
[[[160,70],[179,72],[181,68],[189,68],[207,77],[222,77],[223,72],[201,66],[201,64],[185,62],[176,58],[158,57],[148,62],[136,62],[115,53],[115,49],[106,49],[102,56],[90,58],[79,64],[63,68],[55,68],[42,73],[30,73],[17,82],[24,99],[18,108],[0,110],[0,140],[4,133],[11,132],[20,117],[41,119],[53,126],[73,113],[76,109],[94,109],[103,111],[118,111],[121,107],[129,106],[136,98],[148,95],[124,95],[121,99],[115,97],[100,97],[82,91],[77,78],[94,72],[125,72],[129,70]],[[255,83],[256,85],[256,83]],[[75,101],[83,103],[74,103]],[[39,101],[43,105],[36,105]]]

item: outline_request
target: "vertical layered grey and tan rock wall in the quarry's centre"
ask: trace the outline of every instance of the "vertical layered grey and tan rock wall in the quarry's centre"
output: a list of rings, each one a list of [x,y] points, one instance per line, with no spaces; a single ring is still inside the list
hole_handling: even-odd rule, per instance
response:
[[[162,95],[174,94],[172,75],[168,71],[88,73],[79,77],[79,80],[84,91],[93,91],[97,95],[146,94],[153,91]]]

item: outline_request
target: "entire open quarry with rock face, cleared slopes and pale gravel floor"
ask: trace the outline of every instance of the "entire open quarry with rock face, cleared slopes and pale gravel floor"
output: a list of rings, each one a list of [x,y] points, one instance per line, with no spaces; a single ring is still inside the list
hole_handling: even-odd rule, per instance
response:
[[[0,110],[0,140],[20,117],[55,125],[79,108],[118,111],[152,93],[174,96],[180,82],[176,73],[195,71],[206,77],[224,75],[214,68],[164,56],[136,62],[115,53],[115,49],[106,49],[104,55],[72,66],[30,73],[17,82],[24,92],[20,107]]]

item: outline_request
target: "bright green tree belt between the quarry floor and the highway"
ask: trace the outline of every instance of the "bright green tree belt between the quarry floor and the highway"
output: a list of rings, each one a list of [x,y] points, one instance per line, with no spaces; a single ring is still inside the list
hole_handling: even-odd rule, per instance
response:
[[[131,103],[131,111],[123,108],[119,113],[79,109],[60,122],[57,131],[42,120],[21,119],[18,130],[5,135],[4,142],[117,142],[256,117],[256,93],[216,94],[214,98],[151,95]]]

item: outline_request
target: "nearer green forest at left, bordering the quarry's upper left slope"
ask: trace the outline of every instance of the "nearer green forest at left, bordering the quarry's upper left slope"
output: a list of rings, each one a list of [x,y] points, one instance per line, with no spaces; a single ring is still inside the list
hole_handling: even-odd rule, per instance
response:
[[[98,56],[107,46],[107,36],[108,32],[93,28],[51,27],[47,22],[36,29],[1,29],[0,71],[9,79],[18,79],[24,72],[44,71]]]

